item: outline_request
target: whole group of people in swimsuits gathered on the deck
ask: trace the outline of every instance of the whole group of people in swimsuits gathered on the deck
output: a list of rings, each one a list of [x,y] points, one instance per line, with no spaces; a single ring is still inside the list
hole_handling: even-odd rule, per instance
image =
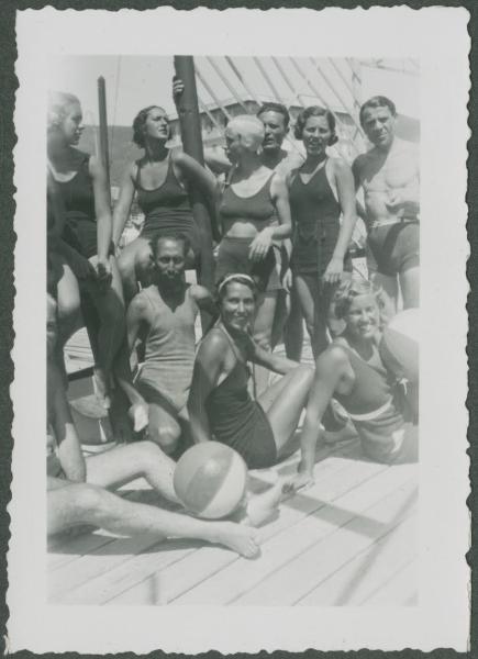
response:
[[[175,98],[182,90],[176,80]],[[396,136],[397,112],[385,97],[362,107],[373,148],[352,168],[330,155],[337,136],[329,110],[312,105],[298,116],[294,135],[303,156],[282,148],[289,121],[278,103],[264,104],[257,116],[233,118],[225,149],[205,149],[202,167],[168,147],[165,111],[145,108],[133,122],[133,139],[144,156],[127,168],[111,213],[101,163],[77,147],[78,99],[51,94],[51,533],[93,524],[126,534],[200,537],[252,556],[258,541],[254,526],[267,518],[285,489],[313,482],[324,426],[336,431],[353,424],[371,459],[413,459],[416,437],[397,378],[380,355],[380,332],[397,309],[399,290],[404,308],[419,304],[416,153]],[[191,187],[202,191],[221,236],[214,291],[185,279],[187,268],[200,265]],[[120,249],[135,196],[143,228]],[[369,279],[352,275],[348,246],[357,212],[368,228]],[[212,320],[197,347],[200,311]],[[303,321],[315,368],[300,364]],[[127,436],[126,428],[143,436],[87,461],[69,412],[63,361],[65,343],[82,322],[96,364],[90,413],[116,407],[118,436]],[[274,351],[280,337],[284,357]],[[269,371],[281,376],[270,386]],[[196,520],[108,491],[144,476],[177,502],[175,460],[191,443],[210,439],[237,450],[251,469],[270,467],[297,448],[303,411],[297,477],[248,498],[235,521]]]

